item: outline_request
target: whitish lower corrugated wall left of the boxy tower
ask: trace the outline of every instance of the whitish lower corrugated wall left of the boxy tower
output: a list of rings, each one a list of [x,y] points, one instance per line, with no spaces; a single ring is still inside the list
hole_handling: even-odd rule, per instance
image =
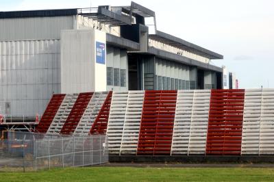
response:
[[[59,40],[0,42],[1,114],[42,114],[59,92]]]

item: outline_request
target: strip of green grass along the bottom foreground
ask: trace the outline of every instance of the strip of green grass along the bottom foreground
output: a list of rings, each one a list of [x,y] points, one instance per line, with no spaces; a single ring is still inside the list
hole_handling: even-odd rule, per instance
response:
[[[86,167],[0,175],[0,181],[274,181],[274,168]]]

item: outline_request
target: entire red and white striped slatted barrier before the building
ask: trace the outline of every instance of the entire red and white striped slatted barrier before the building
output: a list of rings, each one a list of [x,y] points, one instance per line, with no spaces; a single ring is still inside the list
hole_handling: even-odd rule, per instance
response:
[[[274,155],[274,89],[55,94],[36,131],[106,133],[114,155]]]

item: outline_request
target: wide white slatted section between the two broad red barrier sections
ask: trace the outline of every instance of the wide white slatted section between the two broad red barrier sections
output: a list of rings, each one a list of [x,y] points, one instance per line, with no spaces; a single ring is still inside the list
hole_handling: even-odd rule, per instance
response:
[[[210,90],[178,90],[172,155],[206,152]]]

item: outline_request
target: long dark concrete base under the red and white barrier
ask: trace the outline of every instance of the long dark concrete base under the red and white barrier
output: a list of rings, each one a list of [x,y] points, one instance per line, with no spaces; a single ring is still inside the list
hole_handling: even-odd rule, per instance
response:
[[[179,162],[179,163],[274,163],[273,155],[245,155],[245,156],[203,156],[203,155],[175,155],[175,156],[144,156],[144,155],[111,155],[110,162]]]

